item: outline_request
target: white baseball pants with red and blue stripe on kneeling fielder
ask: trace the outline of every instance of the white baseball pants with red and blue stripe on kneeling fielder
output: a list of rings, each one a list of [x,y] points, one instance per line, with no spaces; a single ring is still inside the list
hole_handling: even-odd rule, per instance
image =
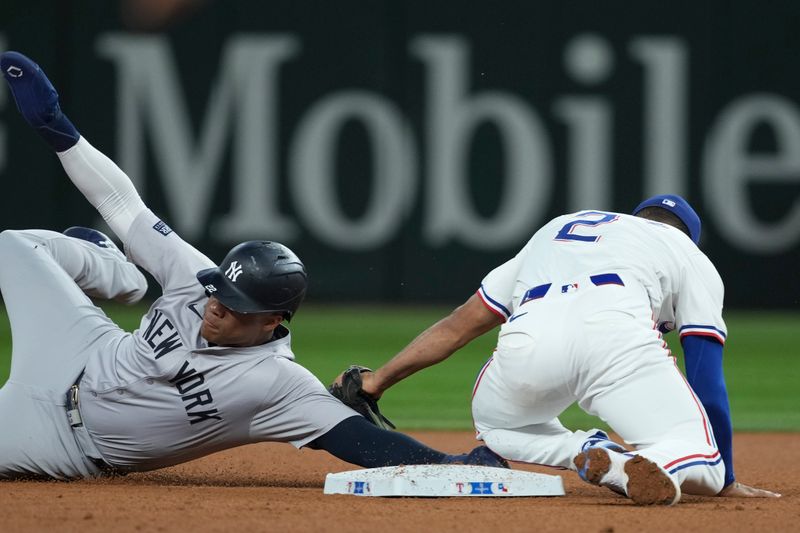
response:
[[[725,466],[705,410],[652,321],[645,289],[625,283],[579,283],[517,309],[475,385],[478,438],[510,460],[575,470],[596,431],[558,421],[577,401],[683,492],[717,494]]]

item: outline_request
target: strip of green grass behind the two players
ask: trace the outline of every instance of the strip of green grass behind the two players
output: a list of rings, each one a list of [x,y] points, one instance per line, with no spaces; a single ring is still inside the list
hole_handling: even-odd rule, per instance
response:
[[[107,309],[128,330],[138,326],[144,311]],[[293,346],[298,361],[327,384],[351,363],[379,366],[447,312],[431,307],[305,306],[292,323]],[[735,429],[800,430],[800,314],[731,312],[726,321],[725,372]],[[495,338],[496,333],[489,333],[447,361],[395,385],[381,401],[382,409],[403,430],[470,429],[472,384]],[[671,334],[667,340],[679,353],[677,338]],[[0,382],[8,376],[10,346],[8,320],[2,314]],[[575,406],[561,420],[571,428],[603,427]]]

